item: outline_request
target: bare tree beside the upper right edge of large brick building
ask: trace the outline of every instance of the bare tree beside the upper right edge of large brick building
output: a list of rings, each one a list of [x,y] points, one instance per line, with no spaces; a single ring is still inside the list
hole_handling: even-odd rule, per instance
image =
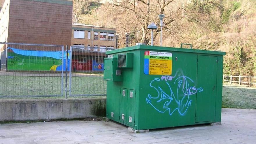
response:
[[[88,0],[73,0],[73,22],[78,23],[81,16],[89,12],[90,1]]]

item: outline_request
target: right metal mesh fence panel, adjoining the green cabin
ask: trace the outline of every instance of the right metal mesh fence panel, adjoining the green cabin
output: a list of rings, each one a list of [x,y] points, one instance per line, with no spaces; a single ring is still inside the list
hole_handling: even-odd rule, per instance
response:
[[[103,80],[106,51],[97,47],[70,47],[69,96],[106,95],[106,81]]]

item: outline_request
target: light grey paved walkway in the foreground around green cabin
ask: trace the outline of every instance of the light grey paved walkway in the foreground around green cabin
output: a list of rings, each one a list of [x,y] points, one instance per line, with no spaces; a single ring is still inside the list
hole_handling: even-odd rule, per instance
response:
[[[193,125],[134,134],[116,122],[61,121],[0,125],[0,143],[255,144],[256,110],[223,109],[222,125]]]

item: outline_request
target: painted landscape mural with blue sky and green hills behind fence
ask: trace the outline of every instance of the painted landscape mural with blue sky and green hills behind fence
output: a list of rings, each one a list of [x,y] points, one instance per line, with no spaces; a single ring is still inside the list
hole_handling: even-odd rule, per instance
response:
[[[22,50],[8,47],[7,68],[8,70],[41,70],[41,71],[61,71],[62,51],[34,51]],[[63,70],[66,69],[66,59],[69,59],[70,52],[66,58],[64,51]]]

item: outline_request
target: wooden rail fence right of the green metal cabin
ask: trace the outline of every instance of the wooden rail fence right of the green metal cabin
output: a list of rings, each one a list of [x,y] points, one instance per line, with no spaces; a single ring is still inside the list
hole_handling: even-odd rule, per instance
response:
[[[242,84],[248,84],[249,87],[251,85],[256,85],[256,77],[251,77],[251,76],[228,76],[228,75],[223,75],[223,82],[230,82],[230,84],[233,83],[238,83],[239,85]]]

